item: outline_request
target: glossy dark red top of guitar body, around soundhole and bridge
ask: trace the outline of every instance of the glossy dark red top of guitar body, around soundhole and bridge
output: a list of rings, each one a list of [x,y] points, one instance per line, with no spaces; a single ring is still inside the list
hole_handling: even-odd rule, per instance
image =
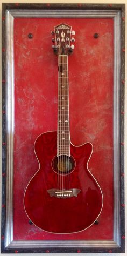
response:
[[[26,187],[24,207],[27,216],[34,225],[52,233],[85,230],[95,222],[103,206],[101,188],[87,167],[93,146],[90,143],[70,144],[70,155],[76,164],[69,174],[70,189],[81,191],[77,197],[65,199],[51,197],[47,192],[58,185],[58,174],[52,169],[52,159],[57,155],[57,131],[41,134],[34,150],[39,170]]]

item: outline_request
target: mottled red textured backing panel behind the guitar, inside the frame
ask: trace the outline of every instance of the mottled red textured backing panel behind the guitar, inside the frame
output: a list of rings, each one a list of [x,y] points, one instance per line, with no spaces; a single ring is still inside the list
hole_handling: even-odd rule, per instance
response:
[[[89,169],[104,196],[100,224],[69,235],[47,233],[30,225],[23,207],[26,185],[38,170],[34,140],[40,133],[57,130],[58,58],[52,51],[50,32],[53,26],[63,22],[72,25],[76,31],[74,53],[68,58],[70,138],[75,145],[93,143]],[[14,239],[112,239],[114,21],[15,18],[14,25]],[[29,33],[33,34],[32,39],[28,38]],[[94,33],[99,37],[95,39]]]

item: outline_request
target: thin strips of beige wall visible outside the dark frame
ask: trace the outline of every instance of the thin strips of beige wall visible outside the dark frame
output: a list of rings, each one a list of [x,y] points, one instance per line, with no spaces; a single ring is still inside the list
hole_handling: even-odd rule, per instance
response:
[[[116,4],[119,4],[119,3],[124,3],[124,4],[127,4],[127,0],[123,0],[123,1],[118,1],[118,0],[116,0],[116,1],[107,1],[107,0],[105,0],[105,1],[96,1],[96,0],[93,0],[92,2],[90,1],[90,0],[80,0],[80,1],[78,1],[78,0],[45,0],[45,1],[43,1],[43,0],[38,0],[38,1],[36,1],[36,0],[31,0],[31,1],[27,1],[27,0],[24,0],[24,1],[22,1],[22,0],[8,0],[8,1],[2,1],[2,0],[0,0],[0,14],[1,14],[1,16],[2,16],[2,3],[116,3]],[[1,21],[2,21],[2,19],[1,19]],[[125,21],[126,21],[126,19],[125,19]],[[1,23],[1,25],[2,25],[2,23]],[[127,39],[127,22],[126,22],[126,39]],[[2,39],[1,39],[1,26],[0,26],[0,42],[2,41]],[[127,45],[126,45],[127,46]],[[126,51],[127,52],[127,51]],[[1,51],[0,51],[0,55],[1,55]],[[126,57],[127,57],[127,53],[125,53],[125,59],[126,59]],[[1,72],[1,70],[0,70],[0,83],[1,83],[1,85],[2,85],[2,72]],[[126,65],[125,65],[125,80],[127,79],[126,78],[127,77],[127,68],[126,68]],[[125,170],[127,170],[127,82],[125,82]],[[2,88],[2,86],[1,86],[1,88]],[[0,89],[0,102],[2,102],[2,90]],[[2,145],[2,104],[1,104],[1,112],[0,112],[0,143],[1,143],[1,145]],[[1,177],[1,171],[2,171],[2,148],[0,147],[0,163],[1,163],[1,169],[0,169],[0,177]],[[126,184],[126,179],[125,179],[125,184]],[[0,187],[1,187],[1,178],[0,178]],[[0,188],[0,191],[1,191],[1,188]],[[127,201],[126,201],[126,194],[127,194],[127,187],[125,188],[125,206],[126,206],[126,203],[127,203]],[[1,197],[1,193],[0,193],[0,197]],[[0,198],[0,205],[1,205],[1,198]],[[0,214],[1,214],[1,211],[0,211]],[[127,216],[127,214],[126,214],[126,207],[125,207],[125,216]],[[127,217],[126,217],[126,223],[127,223]],[[125,226],[125,230],[126,230],[126,228],[127,228],[127,224],[126,224],[126,226]],[[126,234],[127,234],[127,232],[125,233],[125,238],[126,238]],[[125,245],[125,248],[127,247],[127,240],[125,240],[125,242],[126,242],[126,245]],[[40,253],[38,253],[38,254],[40,254]],[[44,253],[41,253],[40,255],[42,255],[42,254],[44,254]],[[61,254],[65,254],[65,253],[61,253]],[[61,255],[60,253],[58,253],[57,254],[57,256],[60,256]],[[67,255],[68,253],[66,253],[66,255]],[[101,255],[101,253],[98,253],[99,255]],[[1,255],[5,255],[5,254],[1,254]],[[10,255],[15,255],[15,254],[10,254]],[[37,254],[34,254],[34,255],[37,255]],[[39,255],[39,256],[40,256]],[[44,254],[45,255],[45,254]],[[56,255],[55,253],[51,253],[50,255]],[[68,255],[71,255],[71,256],[74,256],[75,254],[73,254],[73,253],[70,253],[70,254],[68,254]],[[82,256],[83,255],[85,255],[84,253],[82,253]],[[96,253],[88,253],[88,255],[97,255]],[[107,254],[107,253],[103,253],[103,256],[108,256],[109,254]],[[117,253],[112,253],[112,255],[116,255],[116,256],[118,256],[118,255],[127,255],[127,248],[126,248],[126,250],[125,250],[125,254],[117,254]],[[24,256],[25,256],[25,253],[24,253]]]

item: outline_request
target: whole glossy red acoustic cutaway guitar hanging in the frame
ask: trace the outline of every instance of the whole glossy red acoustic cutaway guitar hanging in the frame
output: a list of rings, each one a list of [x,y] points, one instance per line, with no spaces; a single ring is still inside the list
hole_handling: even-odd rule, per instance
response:
[[[100,186],[88,169],[93,145],[74,146],[69,136],[68,55],[72,27],[54,27],[58,55],[58,130],[40,134],[34,143],[39,169],[26,187],[24,207],[34,225],[52,233],[75,233],[95,223],[102,211]]]

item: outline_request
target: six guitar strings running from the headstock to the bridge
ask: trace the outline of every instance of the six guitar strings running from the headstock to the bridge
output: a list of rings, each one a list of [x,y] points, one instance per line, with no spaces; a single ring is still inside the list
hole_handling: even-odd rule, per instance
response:
[[[67,156],[67,152],[69,149],[70,141],[69,141],[69,120],[68,120],[67,125],[65,124],[66,118],[69,119],[69,98],[68,98],[68,102],[66,100],[66,97],[67,96],[69,97],[69,95],[68,95],[69,94],[68,93],[68,58],[66,58],[66,56],[62,54],[61,42],[60,42],[59,52],[60,52],[59,55],[61,55],[61,56],[58,56],[58,66],[59,66],[58,99],[59,99],[59,103],[58,103],[58,165],[57,165],[57,167],[58,167],[58,192],[62,192],[62,194],[63,194],[63,190],[65,191],[66,189],[69,189],[69,187],[68,187],[68,184],[69,184],[69,156]],[[64,74],[64,75],[62,75],[62,74]],[[62,100],[62,97],[64,97],[65,100]],[[66,109],[65,109],[65,107],[66,107]],[[59,121],[61,121],[61,122],[59,122]],[[64,133],[62,133],[62,131],[64,131]],[[68,133],[68,134],[66,134],[66,133]],[[63,176],[64,176],[64,182],[63,182]],[[67,179],[65,176],[67,176]],[[63,186],[63,184],[64,184],[64,186]],[[64,187],[64,189],[63,189],[63,187]]]

